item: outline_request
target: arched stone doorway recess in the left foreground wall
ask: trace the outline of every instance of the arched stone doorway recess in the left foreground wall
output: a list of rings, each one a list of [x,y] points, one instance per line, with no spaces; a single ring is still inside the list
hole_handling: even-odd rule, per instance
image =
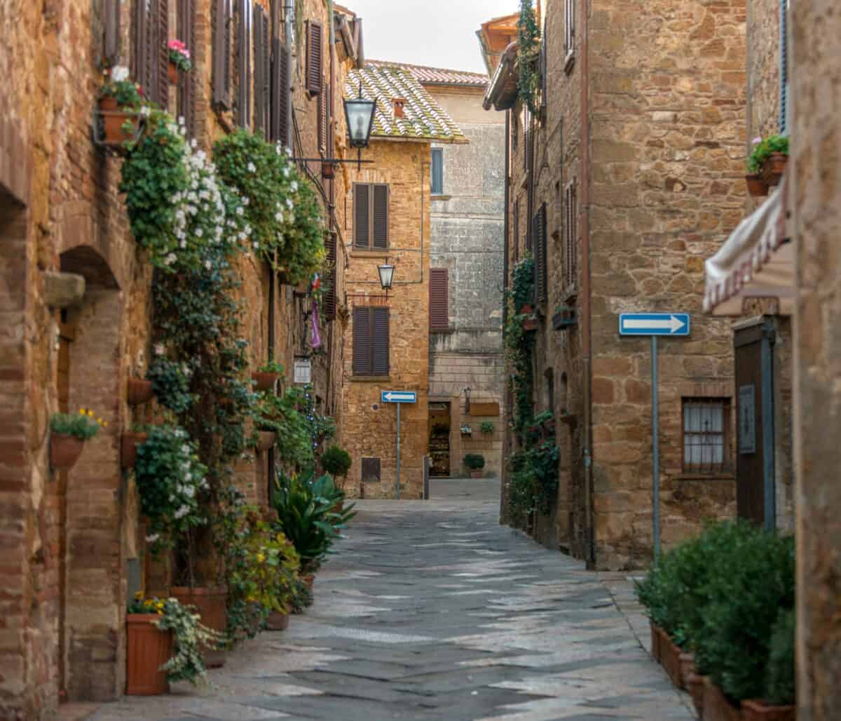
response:
[[[123,300],[108,263],[91,247],[61,254],[61,271],[85,278],[82,304],[61,312],[58,399],[62,411],[92,409],[108,423],[59,474],[59,671],[68,700],[119,696],[124,676],[119,464]]]

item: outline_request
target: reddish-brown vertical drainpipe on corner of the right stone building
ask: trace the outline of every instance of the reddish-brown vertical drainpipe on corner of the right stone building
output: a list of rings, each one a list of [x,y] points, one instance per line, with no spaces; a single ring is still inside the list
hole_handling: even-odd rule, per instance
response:
[[[590,364],[592,323],[590,318],[590,76],[588,45],[590,3],[584,3],[581,22],[581,328],[584,364],[584,523],[587,568],[595,566],[595,522],[593,518],[593,377]]]

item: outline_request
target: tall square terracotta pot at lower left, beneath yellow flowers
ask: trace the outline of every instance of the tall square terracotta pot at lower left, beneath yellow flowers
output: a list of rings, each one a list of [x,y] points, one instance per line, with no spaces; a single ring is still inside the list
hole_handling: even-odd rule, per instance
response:
[[[159,671],[172,656],[172,631],[161,631],[152,621],[156,613],[129,613],[125,692],[129,696],[157,696],[169,691],[166,671]]]

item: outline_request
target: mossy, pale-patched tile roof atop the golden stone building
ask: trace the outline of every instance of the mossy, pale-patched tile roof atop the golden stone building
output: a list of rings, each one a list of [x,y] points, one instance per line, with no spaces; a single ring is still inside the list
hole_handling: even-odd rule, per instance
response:
[[[466,143],[461,128],[436,103],[415,76],[403,67],[368,65],[347,75],[345,95],[356,98],[362,79],[362,97],[377,100],[373,137],[419,138],[438,142]],[[394,98],[404,98],[404,117],[395,118]]]

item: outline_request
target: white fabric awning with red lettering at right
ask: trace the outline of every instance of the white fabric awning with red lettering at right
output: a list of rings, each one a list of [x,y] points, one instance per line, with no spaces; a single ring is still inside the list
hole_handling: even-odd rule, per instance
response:
[[[775,299],[779,315],[795,304],[794,244],[785,231],[785,177],[759,209],[748,215],[705,263],[704,311],[742,315],[744,300]]]

